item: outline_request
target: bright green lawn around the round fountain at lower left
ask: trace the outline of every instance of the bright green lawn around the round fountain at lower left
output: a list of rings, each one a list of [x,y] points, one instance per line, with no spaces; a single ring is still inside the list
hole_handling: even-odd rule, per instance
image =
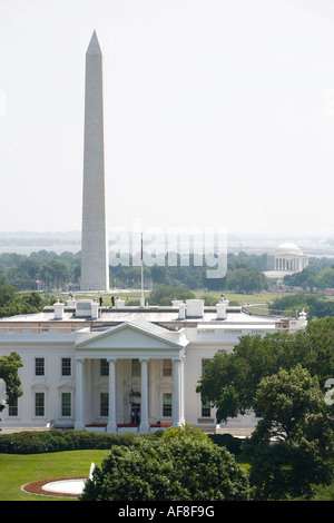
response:
[[[0,501],[60,500],[28,494],[21,486],[32,481],[88,476],[91,462],[101,464],[108,451],[70,451],[50,454],[0,454]]]

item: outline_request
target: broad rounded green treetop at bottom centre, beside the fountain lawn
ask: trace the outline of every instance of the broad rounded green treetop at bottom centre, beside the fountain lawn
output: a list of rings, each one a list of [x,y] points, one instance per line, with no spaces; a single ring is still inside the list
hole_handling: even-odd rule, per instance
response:
[[[177,432],[112,447],[85,485],[82,501],[249,500],[245,471],[208,437]]]

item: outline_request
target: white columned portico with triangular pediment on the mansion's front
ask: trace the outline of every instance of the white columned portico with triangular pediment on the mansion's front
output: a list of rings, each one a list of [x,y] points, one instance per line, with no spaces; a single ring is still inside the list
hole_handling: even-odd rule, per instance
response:
[[[99,424],[109,433],[120,432],[121,426],[148,433],[158,422],[181,426],[187,344],[183,330],[143,318],[104,332],[79,332],[75,428]],[[136,404],[129,401],[131,394]]]

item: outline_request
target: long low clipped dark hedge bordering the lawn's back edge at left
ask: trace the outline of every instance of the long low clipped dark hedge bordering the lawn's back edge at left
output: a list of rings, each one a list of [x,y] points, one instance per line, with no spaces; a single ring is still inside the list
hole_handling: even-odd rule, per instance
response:
[[[108,450],[112,445],[132,444],[135,434],[101,434],[88,431],[23,431],[0,435],[2,454],[41,454],[88,450]]]

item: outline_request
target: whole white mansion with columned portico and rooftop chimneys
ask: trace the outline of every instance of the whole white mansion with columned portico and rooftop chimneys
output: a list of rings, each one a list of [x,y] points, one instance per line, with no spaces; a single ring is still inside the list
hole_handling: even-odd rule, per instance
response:
[[[99,307],[94,300],[57,303],[39,314],[0,320],[0,355],[20,354],[23,395],[1,413],[2,428],[87,428],[148,433],[185,422],[217,431],[215,409],[196,393],[203,367],[246,334],[306,325],[250,315],[226,300],[170,307]],[[222,425],[237,434],[252,416]]]

